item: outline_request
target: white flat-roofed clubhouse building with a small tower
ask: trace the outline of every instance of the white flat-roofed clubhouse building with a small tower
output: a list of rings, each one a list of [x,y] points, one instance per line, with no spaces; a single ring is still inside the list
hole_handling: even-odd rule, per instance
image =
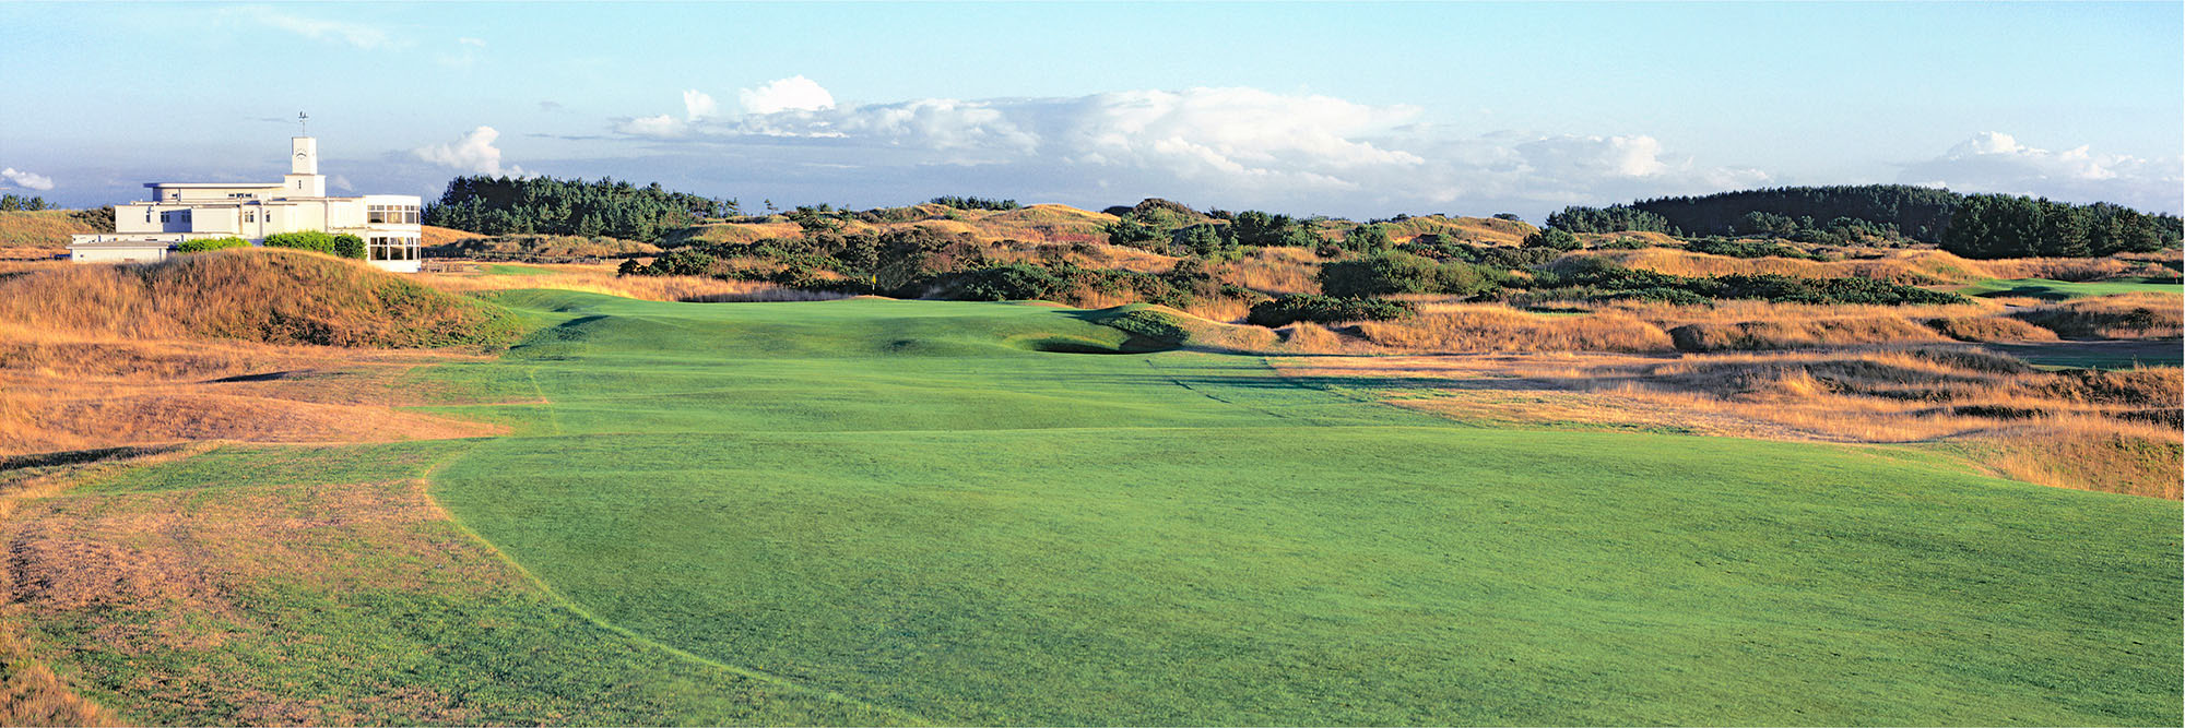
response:
[[[262,242],[273,233],[326,231],[365,240],[365,259],[417,272],[413,194],[326,196],[319,139],[288,139],[288,174],[277,183],[144,183],[151,201],[114,205],[114,231],[74,235],[74,262],[153,262],[199,238]]]

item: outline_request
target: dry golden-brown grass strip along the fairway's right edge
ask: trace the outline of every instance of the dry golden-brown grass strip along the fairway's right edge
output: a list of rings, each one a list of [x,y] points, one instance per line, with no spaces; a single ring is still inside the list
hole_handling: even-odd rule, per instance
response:
[[[2174,416],[2185,408],[2178,368],[2041,373],[1960,347],[1276,357],[1272,364],[1296,377],[1387,379],[1392,403],[1457,418],[1940,442],[1999,475],[2084,490],[2178,499],[2185,466]]]

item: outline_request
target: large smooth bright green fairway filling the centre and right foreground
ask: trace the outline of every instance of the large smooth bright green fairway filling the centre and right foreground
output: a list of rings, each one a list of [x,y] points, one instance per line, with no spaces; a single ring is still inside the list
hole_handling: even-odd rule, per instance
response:
[[[441,408],[516,436],[435,497],[601,626],[907,719],[2181,717],[2172,501],[1462,427],[1053,307],[503,301],[546,327],[430,377],[546,403]]]

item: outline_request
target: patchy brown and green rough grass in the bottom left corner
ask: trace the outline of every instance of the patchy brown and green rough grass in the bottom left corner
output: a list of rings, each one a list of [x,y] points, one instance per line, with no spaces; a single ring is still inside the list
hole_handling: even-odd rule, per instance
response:
[[[127,724],[900,721],[540,591],[424,493],[463,447],[221,449],[87,477],[0,523],[11,621]]]

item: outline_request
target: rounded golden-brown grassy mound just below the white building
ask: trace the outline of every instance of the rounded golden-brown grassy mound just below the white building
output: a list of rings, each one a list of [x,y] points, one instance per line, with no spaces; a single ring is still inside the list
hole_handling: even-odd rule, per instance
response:
[[[238,248],[151,266],[81,266],[0,281],[0,323],[267,344],[500,347],[507,310],[302,251]]]

